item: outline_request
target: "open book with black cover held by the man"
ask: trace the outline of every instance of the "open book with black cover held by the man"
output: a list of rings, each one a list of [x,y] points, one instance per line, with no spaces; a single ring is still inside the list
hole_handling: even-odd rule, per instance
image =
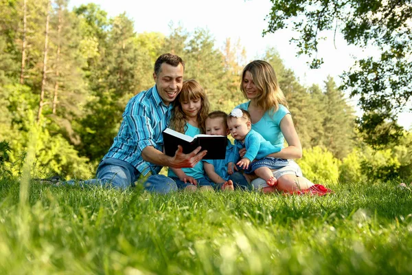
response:
[[[198,146],[202,146],[201,151],[207,150],[203,159],[225,159],[227,137],[225,135],[195,135],[190,137],[183,133],[176,132],[170,128],[163,131],[163,143],[165,145],[165,154],[174,156],[177,146],[183,147],[183,153],[191,153]]]

